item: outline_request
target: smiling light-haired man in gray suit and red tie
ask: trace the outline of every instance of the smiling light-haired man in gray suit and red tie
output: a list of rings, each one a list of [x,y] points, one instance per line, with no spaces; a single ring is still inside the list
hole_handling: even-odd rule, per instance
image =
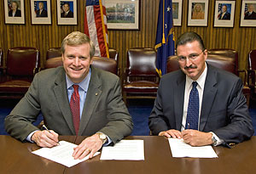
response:
[[[58,143],[58,135],[82,135],[73,157],[83,159],[131,134],[131,115],[122,100],[119,77],[93,68],[95,47],[79,31],[66,36],[61,44],[63,67],[42,70],[5,119],[5,129],[20,141],[40,147]],[[40,131],[32,122],[39,113],[48,131]]]

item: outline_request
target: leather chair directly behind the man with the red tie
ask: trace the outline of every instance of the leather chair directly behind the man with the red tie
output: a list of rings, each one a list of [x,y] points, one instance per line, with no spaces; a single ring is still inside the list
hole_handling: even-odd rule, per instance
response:
[[[92,57],[92,59],[92,66],[94,66],[95,68],[107,70],[115,75],[118,75],[117,62],[115,61],[115,59],[108,59],[103,57]],[[48,59],[44,65],[44,68],[55,68],[62,65],[62,58],[56,57]]]

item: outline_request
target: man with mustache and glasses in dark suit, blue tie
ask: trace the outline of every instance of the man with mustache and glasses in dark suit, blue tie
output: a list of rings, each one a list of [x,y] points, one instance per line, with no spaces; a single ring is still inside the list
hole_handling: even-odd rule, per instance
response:
[[[241,79],[207,65],[207,49],[195,32],[180,36],[176,48],[181,70],[161,78],[148,122],[152,134],[192,146],[249,139],[254,131]]]

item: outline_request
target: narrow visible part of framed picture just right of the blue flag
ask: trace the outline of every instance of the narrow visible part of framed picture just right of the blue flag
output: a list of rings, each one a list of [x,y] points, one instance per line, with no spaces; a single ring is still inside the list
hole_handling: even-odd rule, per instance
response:
[[[174,26],[181,26],[183,0],[172,0],[172,18]]]

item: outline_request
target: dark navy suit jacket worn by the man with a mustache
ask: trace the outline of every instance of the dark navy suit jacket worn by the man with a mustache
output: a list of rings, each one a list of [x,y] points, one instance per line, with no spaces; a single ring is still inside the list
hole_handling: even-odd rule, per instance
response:
[[[242,93],[241,79],[207,65],[199,131],[214,132],[225,143],[240,143],[253,135],[253,124]],[[149,128],[154,135],[181,130],[186,76],[182,70],[161,78]]]

